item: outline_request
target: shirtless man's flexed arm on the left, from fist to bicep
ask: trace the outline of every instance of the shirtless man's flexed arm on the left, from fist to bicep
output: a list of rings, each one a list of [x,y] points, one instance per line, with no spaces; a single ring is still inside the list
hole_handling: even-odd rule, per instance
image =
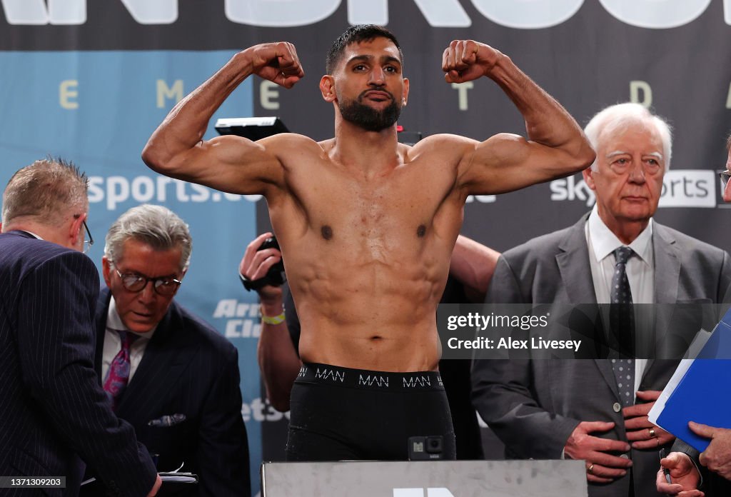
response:
[[[213,113],[252,74],[284,88],[304,76],[291,43],[264,43],[237,53],[173,107],[145,145],[145,164],[163,175],[232,193],[265,193],[267,185],[281,181],[281,162],[263,140],[202,141]]]

